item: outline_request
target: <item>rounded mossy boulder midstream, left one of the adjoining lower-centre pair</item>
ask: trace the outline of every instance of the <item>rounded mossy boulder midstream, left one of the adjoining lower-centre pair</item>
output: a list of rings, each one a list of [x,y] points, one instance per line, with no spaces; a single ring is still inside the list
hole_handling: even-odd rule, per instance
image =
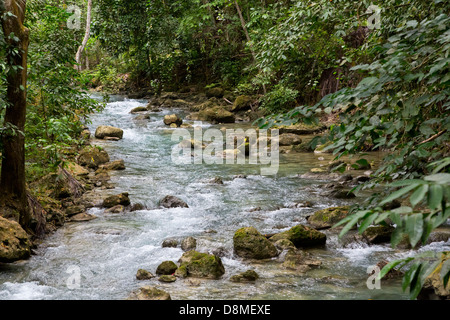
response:
[[[236,255],[242,258],[269,259],[278,255],[277,248],[254,227],[237,230],[233,245]]]

